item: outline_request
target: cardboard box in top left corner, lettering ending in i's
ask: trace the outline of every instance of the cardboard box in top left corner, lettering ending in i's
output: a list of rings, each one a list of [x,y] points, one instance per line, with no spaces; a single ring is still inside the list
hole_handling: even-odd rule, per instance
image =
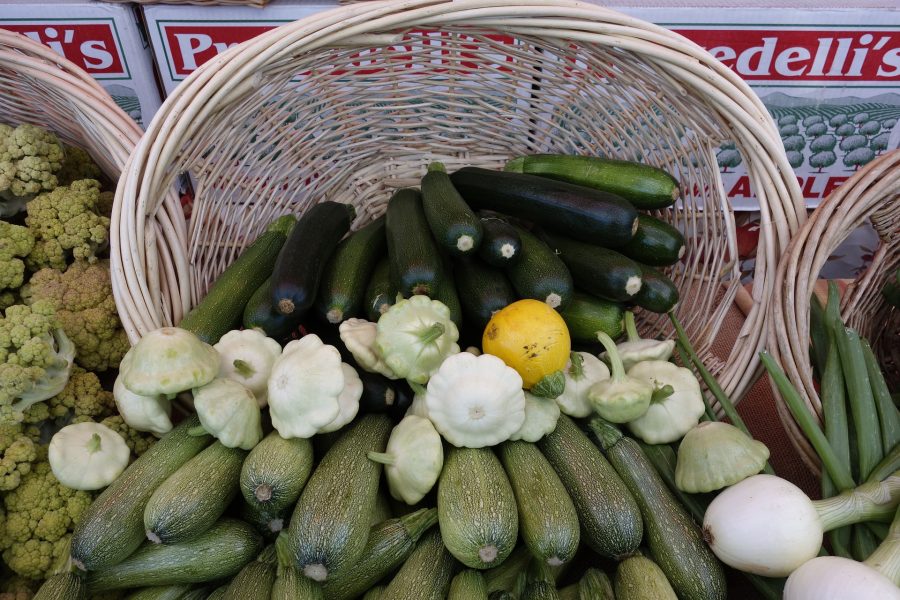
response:
[[[130,4],[87,0],[0,0],[0,27],[65,56],[146,126],[162,102],[140,15]]]

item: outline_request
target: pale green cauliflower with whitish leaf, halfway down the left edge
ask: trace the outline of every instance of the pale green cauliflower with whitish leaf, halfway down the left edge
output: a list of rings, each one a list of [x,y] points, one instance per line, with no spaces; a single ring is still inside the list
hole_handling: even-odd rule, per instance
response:
[[[21,413],[60,393],[74,359],[75,346],[52,304],[42,300],[7,308],[0,318],[0,409],[5,409],[0,417],[9,420],[9,408]]]

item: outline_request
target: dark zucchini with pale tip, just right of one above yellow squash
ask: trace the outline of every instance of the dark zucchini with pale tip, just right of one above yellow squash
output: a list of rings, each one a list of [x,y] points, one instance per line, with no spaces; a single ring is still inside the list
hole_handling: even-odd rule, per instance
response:
[[[541,237],[562,257],[576,287],[615,302],[634,301],[641,291],[641,267],[627,256],[549,232]]]

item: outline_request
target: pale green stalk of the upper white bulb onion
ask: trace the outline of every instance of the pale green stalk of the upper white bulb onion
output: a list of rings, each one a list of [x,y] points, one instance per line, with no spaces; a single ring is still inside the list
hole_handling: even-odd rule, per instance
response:
[[[855,490],[832,498],[814,500],[822,528],[830,531],[845,525],[891,518],[900,503],[900,472],[882,482],[864,483]]]

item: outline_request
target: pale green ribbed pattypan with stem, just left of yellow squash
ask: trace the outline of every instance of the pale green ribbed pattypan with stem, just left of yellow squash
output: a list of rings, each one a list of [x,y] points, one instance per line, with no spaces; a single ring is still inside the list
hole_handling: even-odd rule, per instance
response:
[[[400,300],[378,319],[375,350],[398,376],[424,384],[444,359],[459,353],[459,330],[439,300]]]

